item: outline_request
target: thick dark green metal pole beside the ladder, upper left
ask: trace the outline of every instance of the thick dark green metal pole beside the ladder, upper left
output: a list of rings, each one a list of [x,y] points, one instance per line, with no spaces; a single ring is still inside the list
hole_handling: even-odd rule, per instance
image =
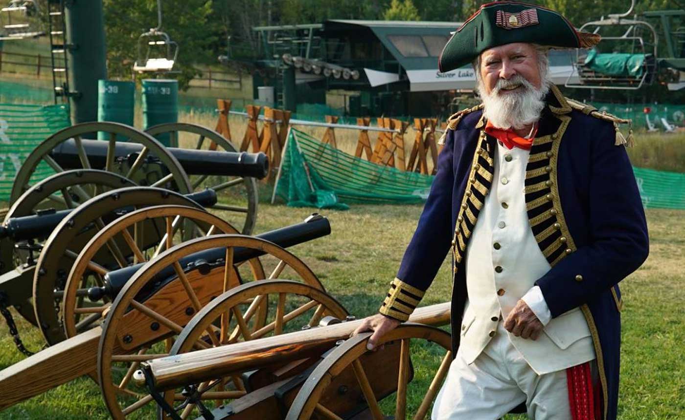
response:
[[[97,81],[107,79],[102,0],[65,3],[71,122],[97,121]]]

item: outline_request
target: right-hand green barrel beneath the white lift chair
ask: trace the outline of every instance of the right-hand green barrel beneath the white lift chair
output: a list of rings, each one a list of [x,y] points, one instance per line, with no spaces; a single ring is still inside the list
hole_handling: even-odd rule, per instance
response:
[[[149,129],[157,124],[178,121],[178,81],[169,79],[144,79],[142,81],[142,124]],[[171,134],[157,136],[164,146],[171,144]]]

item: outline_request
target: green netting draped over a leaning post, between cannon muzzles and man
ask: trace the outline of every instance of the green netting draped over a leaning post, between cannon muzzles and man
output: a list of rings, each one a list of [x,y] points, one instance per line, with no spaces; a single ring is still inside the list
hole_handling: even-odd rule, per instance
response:
[[[381,166],[290,129],[274,194],[292,207],[347,209],[352,203],[420,203],[433,176]]]

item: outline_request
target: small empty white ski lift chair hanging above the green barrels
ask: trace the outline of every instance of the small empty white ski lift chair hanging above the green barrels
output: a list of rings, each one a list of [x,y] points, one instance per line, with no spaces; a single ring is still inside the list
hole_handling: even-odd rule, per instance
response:
[[[142,50],[146,49],[145,57]],[[163,51],[163,54],[159,52]],[[133,70],[138,73],[178,73],[173,66],[178,57],[178,44],[166,32],[150,29],[138,37],[138,59]]]

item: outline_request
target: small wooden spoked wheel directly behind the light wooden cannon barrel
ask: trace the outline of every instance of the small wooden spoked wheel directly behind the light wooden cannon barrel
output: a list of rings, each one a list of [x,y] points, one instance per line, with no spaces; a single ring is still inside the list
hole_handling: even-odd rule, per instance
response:
[[[251,323],[242,323],[244,314],[250,314],[261,302],[268,302],[269,313],[267,324],[256,330]],[[192,318],[190,323],[179,334],[171,347],[171,355],[192,352],[197,348],[230,345],[238,341],[249,341],[262,337],[293,332],[316,326],[323,316],[332,315],[338,319],[345,319],[348,313],[337,300],[320,289],[310,285],[297,283],[292,280],[264,280],[240,285],[223,293],[212,300],[202,311]],[[215,339],[208,334],[214,334]],[[218,341],[218,343],[216,343]],[[314,359],[316,360],[316,358]],[[303,371],[311,363],[295,363],[297,372]],[[256,389],[271,380],[282,380],[295,375],[292,369],[275,373],[276,367],[256,371],[251,377],[253,382],[247,384],[247,389]],[[190,385],[190,384],[189,384]],[[201,395],[200,399],[206,408],[221,406],[227,399],[242,397],[247,394],[246,386],[241,378],[231,376],[214,378],[201,384],[193,384]],[[182,390],[168,391],[164,395],[170,406],[179,406],[178,414],[182,419],[195,419],[201,413],[197,405],[190,402],[184,404]],[[168,419],[166,413],[160,412],[162,419]]]

